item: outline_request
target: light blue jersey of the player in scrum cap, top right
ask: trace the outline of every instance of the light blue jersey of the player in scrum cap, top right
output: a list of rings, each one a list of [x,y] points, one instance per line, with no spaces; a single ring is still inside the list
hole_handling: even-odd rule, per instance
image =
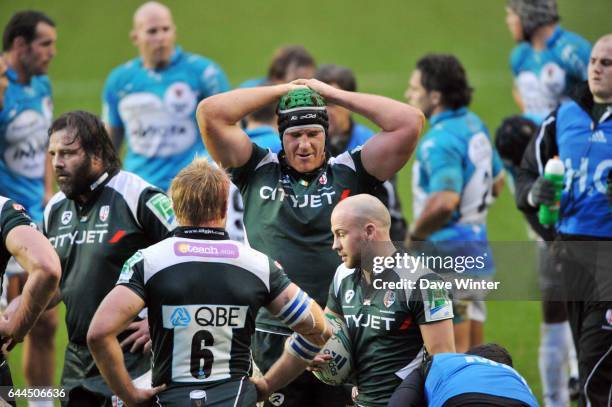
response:
[[[556,109],[570,89],[587,79],[590,55],[587,40],[559,26],[543,50],[528,42],[517,45],[510,65],[525,116],[539,124]]]

